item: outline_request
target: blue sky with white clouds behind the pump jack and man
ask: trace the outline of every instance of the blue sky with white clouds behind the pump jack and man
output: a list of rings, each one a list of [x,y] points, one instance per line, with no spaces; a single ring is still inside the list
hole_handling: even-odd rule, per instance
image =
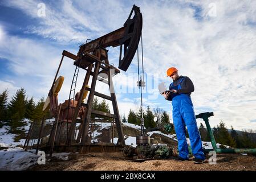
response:
[[[174,66],[194,83],[196,114],[214,112],[212,127],[222,119],[228,128],[255,130],[256,1],[0,1],[0,92],[7,88],[11,97],[23,87],[35,100],[46,97],[63,49],[76,54],[86,39],[122,27],[133,4],[143,14],[144,106],[172,117],[158,84],[170,84],[165,73]],[[119,48],[108,49],[118,67]],[[141,46],[139,54],[141,60]],[[64,59],[60,102],[68,98],[74,70]],[[113,79],[120,114],[127,116],[140,105],[137,56]],[[97,83],[96,91],[109,90]]]

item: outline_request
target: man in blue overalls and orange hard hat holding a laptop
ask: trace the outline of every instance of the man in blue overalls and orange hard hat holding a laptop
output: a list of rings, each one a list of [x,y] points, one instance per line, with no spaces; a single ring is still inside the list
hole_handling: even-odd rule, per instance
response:
[[[166,100],[172,101],[173,124],[178,139],[178,160],[189,159],[186,126],[194,155],[194,163],[203,163],[205,160],[204,149],[202,148],[202,141],[190,97],[190,94],[194,92],[193,82],[189,77],[179,76],[178,70],[174,67],[169,68],[166,73],[168,77],[172,78],[173,82],[169,87],[170,92],[164,92],[163,96]]]

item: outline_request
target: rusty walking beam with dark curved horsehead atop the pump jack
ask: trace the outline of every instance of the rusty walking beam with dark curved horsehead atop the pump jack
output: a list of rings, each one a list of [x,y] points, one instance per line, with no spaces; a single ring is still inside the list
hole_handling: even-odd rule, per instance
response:
[[[92,52],[99,47],[120,46],[118,68],[127,71],[140,42],[142,25],[143,19],[140,8],[133,5],[132,11],[123,27],[92,40],[92,42],[83,44],[80,46],[78,56],[82,58],[86,52]]]

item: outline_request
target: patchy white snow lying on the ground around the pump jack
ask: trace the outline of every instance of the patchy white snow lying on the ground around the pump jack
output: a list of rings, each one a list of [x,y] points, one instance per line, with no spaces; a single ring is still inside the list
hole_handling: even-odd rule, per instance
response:
[[[23,130],[29,130],[29,120],[25,120],[27,125],[24,126]],[[108,129],[111,127],[111,123],[95,123],[98,126],[98,129],[94,131],[94,138],[101,134],[102,129]],[[140,130],[139,125],[133,125],[131,123],[123,123],[124,126],[132,127],[134,129]],[[35,150],[25,151],[19,146],[23,146],[25,143],[25,139],[21,139],[19,142],[14,142],[15,135],[10,134],[9,126],[3,126],[0,129],[0,170],[26,170],[30,166],[35,165],[38,162],[38,158],[40,155],[35,154]],[[150,131],[147,133],[149,137],[153,134],[160,134],[165,137],[168,137],[173,140],[176,139],[175,134],[164,134],[161,131]],[[136,137],[124,136],[125,144],[136,147]],[[92,139],[92,142],[97,142],[95,139]],[[117,143],[117,138],[114,138],[114,143]],[[187,139],[188,144],[190,144],[189,138]],[[206,149],[212,149],[212,144],[210,142],[202,142],[203,147]],[[220,144],[217,144],[220,147]],[[226,146],[229,147],[229,146]],[[68,160],[68,155],[70,153],[58,153],[53,154],[55,158],[59,158],[61,160]]]

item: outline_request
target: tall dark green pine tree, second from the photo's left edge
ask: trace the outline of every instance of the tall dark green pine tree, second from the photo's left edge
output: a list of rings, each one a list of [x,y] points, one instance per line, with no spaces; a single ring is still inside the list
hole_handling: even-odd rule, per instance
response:
[[[21,88],[17,90],[15,96],[11,98],[11,101],[8,105],[8,115],[11,119],[9,125],[12,130],[15,130],[17,127],[21,127],[24,123],[21,122],[25,118],[26,113],[26,91]]]

